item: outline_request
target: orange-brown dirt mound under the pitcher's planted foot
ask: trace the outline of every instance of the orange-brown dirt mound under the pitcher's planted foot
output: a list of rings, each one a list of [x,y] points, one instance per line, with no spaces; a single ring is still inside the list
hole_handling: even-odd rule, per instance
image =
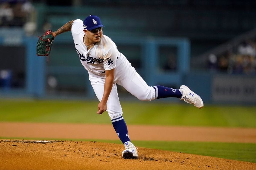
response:
[[[0,141],[0,169],[256,169],[255,163],[138,148],[123,159],[120,144],[96,141]]]

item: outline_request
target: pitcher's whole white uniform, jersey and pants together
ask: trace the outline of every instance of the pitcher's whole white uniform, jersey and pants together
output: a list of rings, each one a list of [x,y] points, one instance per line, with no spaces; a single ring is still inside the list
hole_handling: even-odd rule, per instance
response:
[[[109,37],[102,35],[101,41],[87,50],[83,42],[85,35],[83,21],[73,21],[71,32],[78,57],[88,71],[91,85],[100,101],[104,93],[104,72],[115,68],[114,85],[107,100],[107,112],[112,122],[123,119],[116,83],[123,86],[139,100],[155,100],[156,92],[154,88],[148,86],[139,76],[131,66],[131,63],[117,50],[117,46]]]

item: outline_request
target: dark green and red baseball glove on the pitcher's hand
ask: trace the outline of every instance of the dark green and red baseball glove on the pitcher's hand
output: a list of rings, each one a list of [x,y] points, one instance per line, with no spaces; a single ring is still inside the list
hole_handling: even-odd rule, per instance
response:
[[[54,36],[51,30],[46,31],[37,41],[37,55],[49,56],[51,52],[51,46],[53,44]]]

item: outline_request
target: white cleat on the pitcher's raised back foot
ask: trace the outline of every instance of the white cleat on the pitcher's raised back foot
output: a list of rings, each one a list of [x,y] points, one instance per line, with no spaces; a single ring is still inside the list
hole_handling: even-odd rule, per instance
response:
[[[197,108],[203,108],[203,100],[200,96],[191,91],[187,86],[181,85],[180,89],[182,97],[180,100],[184,100],[189,104],[193,104]]]

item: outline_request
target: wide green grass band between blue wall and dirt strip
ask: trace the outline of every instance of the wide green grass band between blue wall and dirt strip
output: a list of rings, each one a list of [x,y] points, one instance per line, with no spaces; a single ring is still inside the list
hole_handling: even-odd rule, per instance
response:
[[[121,102],[128,124],[214,126],[256,128],[255,106],[205,105],[186,103]],[[96,114],[98,101],[0,100],[0,121],[110,123],[107,112]]]

